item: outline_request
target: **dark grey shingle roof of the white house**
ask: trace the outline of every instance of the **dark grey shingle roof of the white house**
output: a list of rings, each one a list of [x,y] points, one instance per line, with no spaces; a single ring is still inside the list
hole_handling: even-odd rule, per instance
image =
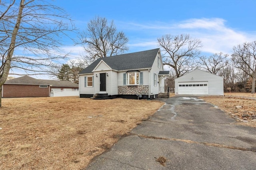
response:
[[[79,72],[79,74],[89,74],[92,70],[100,63],[104,61],[113,70],[138,70],[142,68],[152,68],[154,60],[160,49],[152,49],[147,51],[140,51],[136,53],[116,55],[112,57],[104,57],[97,59],[84,70]]]

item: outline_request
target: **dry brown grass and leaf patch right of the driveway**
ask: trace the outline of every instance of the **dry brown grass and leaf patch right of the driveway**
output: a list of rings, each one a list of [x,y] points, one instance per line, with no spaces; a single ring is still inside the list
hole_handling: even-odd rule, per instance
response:
[[[250,93],[225,93],[224,96],[202,96],[200,97],[206,102],[218,106],[231,117],[238,116],[240,119],[245,119],[248,123],[237,120],[237,123],[256,127],[256,122],[252,119],[242,117],[243,114],[253,115],[256,114],[256,94]],[[242,106],[237,109],[236,106]]]

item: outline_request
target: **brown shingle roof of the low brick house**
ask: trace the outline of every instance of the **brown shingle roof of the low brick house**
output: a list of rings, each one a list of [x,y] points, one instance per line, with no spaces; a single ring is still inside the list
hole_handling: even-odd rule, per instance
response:
[[[54,87],[78,87],[78,84],[61,80],[42,80],[30,76],[22,76],[7,80],[4,84],[51,85]]]

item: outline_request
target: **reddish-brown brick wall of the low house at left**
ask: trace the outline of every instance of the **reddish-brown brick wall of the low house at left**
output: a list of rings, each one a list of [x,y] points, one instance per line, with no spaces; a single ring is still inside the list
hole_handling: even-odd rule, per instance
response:
[[[47,88],[39,88],[39,85],[4,84],[2,91],[4,98],[49,96],[49,86]]]

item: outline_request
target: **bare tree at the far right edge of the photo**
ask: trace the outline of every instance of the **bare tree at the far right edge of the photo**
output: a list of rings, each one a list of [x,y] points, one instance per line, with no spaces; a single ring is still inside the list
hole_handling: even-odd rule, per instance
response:
[[[233,47],[232,60],[236,68],[240,68],[252,77],[251,93],[254,94],[256,80],[256,41]]]

